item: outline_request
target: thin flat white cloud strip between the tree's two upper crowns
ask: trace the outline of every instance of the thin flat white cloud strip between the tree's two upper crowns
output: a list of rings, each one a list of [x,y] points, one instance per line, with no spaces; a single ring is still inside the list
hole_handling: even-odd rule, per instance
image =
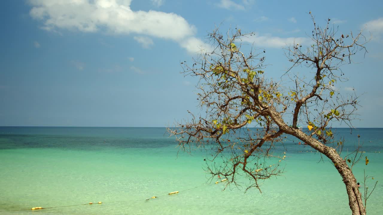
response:
[[[292,44],[303,44],[308,45],[311,42],[311,39],[308,37],[276,37],[271,35],[264,36],[249,36],[242,38],[242,41],[254,43],[257,47],[272,47],[272,48],[282,48]]]

